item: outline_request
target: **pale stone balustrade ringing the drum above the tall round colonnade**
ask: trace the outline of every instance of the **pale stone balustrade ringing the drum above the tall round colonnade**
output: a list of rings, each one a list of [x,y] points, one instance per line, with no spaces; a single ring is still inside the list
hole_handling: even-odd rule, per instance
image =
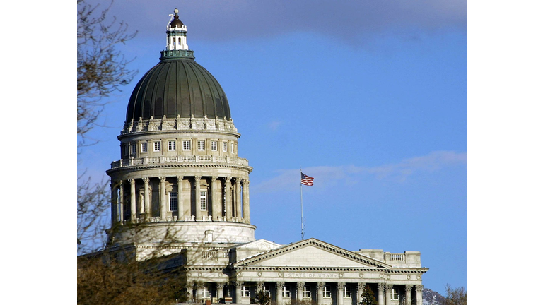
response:
[[[249,166],[249,161],[240,157],[224,157],[210,155],[189,155],[189,156],[160,156],[121,159],[111,162],[111,168],[129,167],[136,165],[153,165],[163,163],[226,163],[228,165]]]

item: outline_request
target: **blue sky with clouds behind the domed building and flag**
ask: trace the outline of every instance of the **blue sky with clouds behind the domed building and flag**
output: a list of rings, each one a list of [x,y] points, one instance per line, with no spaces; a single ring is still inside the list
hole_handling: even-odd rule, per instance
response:
[[[173,8],[241,133],[257,239],[421,251],[424,285],[467,287],[465,1],[117,1],[139,71],[105,108],[78,171],[105,177],[134,85]]]

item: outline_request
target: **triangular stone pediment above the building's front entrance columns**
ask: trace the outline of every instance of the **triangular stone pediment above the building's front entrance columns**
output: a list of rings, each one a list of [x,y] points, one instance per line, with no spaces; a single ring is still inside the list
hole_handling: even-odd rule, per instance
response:
[[[233,263],[233,267],[391,268],[375,258],[363,256],[318,239],[305,239]]]

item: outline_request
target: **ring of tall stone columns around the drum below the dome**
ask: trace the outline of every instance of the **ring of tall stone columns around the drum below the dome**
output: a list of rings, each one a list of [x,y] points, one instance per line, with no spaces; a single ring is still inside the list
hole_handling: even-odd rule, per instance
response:
[[[152,217],[153,210],[151,204],[151,179],[154,182],[158,179],[158,201],[159,216]],[[170,201],[166,193],[166,184],[168,177],[143,177],[141,179],[119,180],[110,184],[111,187],[111,221],[115,222],[156,222],[156,221],[228,221],[250,223],[249,207],[249,180],[238,177],[202,177],[202,176],[177,176],[176,184],[168,184],[171,189],[177,189],[177,215],[174,216],[170,210]],[[192,180],[193,190],[188,193],[194,193],[194,198],[190,198],[189,214],[185,215],[183,194],[186,188],[183,188],[184,179]],[[207,181],[209,179],[209,190]],[[170,179],[171,180],[171,179]],[[205,188],[202,189],[202,180],[205,180]],[[221,189],[217,189],[220,182]],[[127,196],[127,186],[129,186],[129,196]],[[136,193],[136,189],[138,192]],[[143,189],[143,196],[140,196],[139,190]],[[200,208],[200,191],[209,191],[209,197],[206,197],[206,208]],[[224,192],[223,192],[224,190]],[[194,191],[194,192],[192,192]],[[192,208],[194,203],[194,208]],[[138,209],[139,208],[139,209]],[[129,215],[127,212],[130,212]],[[156,213],[156,211],[154,211]],[[170,216],[168,216],[170,215]]]

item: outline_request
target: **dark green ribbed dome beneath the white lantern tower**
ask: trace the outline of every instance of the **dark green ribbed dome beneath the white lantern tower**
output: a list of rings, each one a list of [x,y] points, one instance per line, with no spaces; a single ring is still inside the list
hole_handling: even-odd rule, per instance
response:
[[[226,94],[217,80],[197,64],[190,50],[161,52],[160,63],[139,80],[130,97],[127,121],[215,116],[230,119]]]

